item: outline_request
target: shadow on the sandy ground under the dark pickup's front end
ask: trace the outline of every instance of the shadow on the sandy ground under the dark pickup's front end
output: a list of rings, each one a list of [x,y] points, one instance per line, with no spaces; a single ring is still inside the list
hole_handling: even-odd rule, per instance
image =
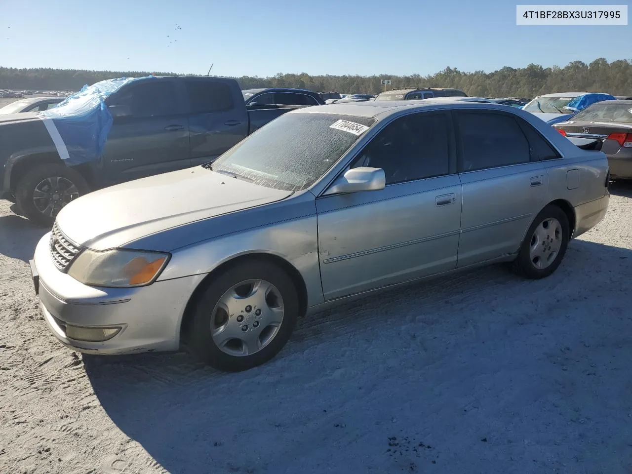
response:
[[[28,262],[33,258],[35,245],[49,230],[16,214],[0,216],[0,253]]]

